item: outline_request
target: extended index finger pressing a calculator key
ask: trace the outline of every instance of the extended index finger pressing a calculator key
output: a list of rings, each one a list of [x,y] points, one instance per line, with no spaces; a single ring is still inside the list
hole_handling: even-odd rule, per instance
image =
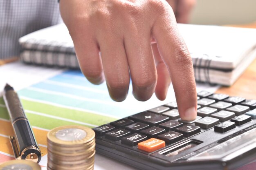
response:
[[[180,117],[188,121],[195,119],[197,93],[193,63],[169,5],[155,21],[152,36],[171,76]]]

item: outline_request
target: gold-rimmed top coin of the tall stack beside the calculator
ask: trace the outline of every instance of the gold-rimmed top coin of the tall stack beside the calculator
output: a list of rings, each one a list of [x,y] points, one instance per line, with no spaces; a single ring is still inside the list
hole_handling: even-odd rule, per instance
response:
[[[61,126],[47,134],[47,139],[52,143],[66,146],[86,144],[94,137],[95,132],[85,126]]]

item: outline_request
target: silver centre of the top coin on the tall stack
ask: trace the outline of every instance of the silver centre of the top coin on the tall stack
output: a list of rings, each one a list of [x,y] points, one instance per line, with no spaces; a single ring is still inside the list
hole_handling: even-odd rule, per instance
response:
[[[67,128],[58,130],[55,134],[56,138],[62,141],[79,141],[86,137],[87,133],[78,128]]]

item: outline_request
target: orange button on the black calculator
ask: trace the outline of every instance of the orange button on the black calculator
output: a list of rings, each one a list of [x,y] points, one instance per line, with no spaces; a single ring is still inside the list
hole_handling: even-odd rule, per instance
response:
[[[164,148],[164,147],[165,147],[165,142],[155,138],[148,139],[138,144],[138,148],[146,152],[153,152],[157,149]]]

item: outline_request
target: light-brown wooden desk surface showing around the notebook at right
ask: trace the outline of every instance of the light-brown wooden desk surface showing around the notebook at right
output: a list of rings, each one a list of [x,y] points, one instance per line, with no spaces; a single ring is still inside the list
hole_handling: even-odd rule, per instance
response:
[[[256,28],[256,22],[236,27]],[[230,87],[222,87],[216,93],[226,93],[232,96],[241,96],[247,99],[256,99],[256,60],[249,65],[245,72]]]

